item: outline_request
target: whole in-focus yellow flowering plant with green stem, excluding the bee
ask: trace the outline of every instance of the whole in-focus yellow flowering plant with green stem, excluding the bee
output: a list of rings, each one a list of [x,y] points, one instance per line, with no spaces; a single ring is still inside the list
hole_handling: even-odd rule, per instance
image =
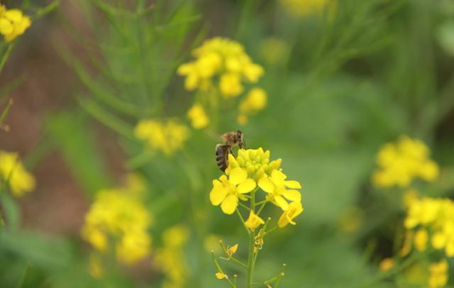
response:
[[[213,180],[213,188],[209,194],[211,204],[221,206],[221,210],[225,214],[236,213],[248,232],[250,242],[247,263],[233,257],[233,253],[229,253],[221,242],[223,251],[228,256],[227,258],[221,257],[221,259],[233,261],[247,270],[248,287],[253,283],[255,258],[265,245],[265,236],[288,224],[296,225],[294,219],[304,211],[301,204],[301,193],[298,191],[301,189],[301,184],[294,180],[287,180],[287,175],[282,172],[281,164],[281,159],[270,161],[269,150],[239,149],[236,157],[233,153],[228,154],[228,167],[225,174]],[[263,218],[261,215],[268,203],[274,204],[282,210],[281,216],[275,221],[272,228],[269,227],[272,219]],[[246,220],[244,220],[245,216],[242,211],[246,211],[248,214]],[[234,247],[236,252],[238,246]],[[216,278],[236,287],[228,274],[222,270],[214,252],[212,255],[217,270]],[[267,284],[279,282],[283,275],[284,273],[281,272],[276,277],[272,277],[271,282],[267,282]],[[236,277],[233,279],[236,281]]]

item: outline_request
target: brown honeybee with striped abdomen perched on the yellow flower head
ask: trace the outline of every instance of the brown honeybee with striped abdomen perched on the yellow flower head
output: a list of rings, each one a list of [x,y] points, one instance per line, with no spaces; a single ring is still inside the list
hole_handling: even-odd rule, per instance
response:
[[[243,132],[227,132],[221,135],[222,143],[216,145],[216,164],[222,172],[228,166],[228,154],[233,154],[232,147],[238,146],[245,149],[246,144],[243,139]]]

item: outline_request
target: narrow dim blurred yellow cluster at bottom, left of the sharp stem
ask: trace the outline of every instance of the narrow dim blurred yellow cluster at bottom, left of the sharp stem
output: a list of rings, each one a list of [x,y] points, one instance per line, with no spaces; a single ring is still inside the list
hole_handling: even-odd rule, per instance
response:
[[[164,272],[164,288],[185,287],[188,267],[184,261],[184,245],[189,238],[189,231],[182,225],[168,228],[162,233],[163,248],[157,250],[155,263]]]

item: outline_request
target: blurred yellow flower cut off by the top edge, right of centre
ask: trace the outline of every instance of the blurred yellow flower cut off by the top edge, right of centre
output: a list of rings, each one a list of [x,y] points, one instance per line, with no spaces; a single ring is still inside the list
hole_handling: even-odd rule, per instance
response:
[[[295,18],[321,14],[325,7],[328,7],[328,12],[332,15],[336,9],[334,0],[280,0],[280,2],[285,11]]]

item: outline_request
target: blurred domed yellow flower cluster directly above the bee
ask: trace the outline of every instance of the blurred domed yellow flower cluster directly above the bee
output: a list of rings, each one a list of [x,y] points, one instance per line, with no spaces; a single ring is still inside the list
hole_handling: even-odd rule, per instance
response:
[[[258,82],[264,73],[240,43],[228,38],[206,40],[192,55],[196,60],[180,65],[177,70],[186,77],[184,87],[189,91],[206,90],[214,85],[223,96],[238,96],[243,92],[243,82]],[[219,76],[218,84],[214,84],[215,76]]]

